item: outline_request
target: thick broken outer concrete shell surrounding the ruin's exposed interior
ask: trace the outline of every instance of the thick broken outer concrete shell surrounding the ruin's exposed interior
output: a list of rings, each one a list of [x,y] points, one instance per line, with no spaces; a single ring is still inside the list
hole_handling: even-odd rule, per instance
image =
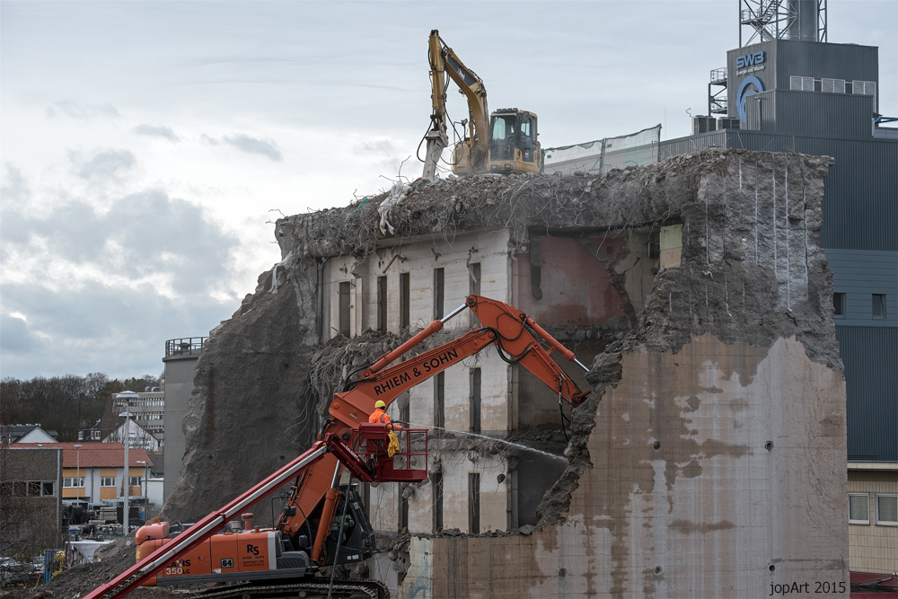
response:
[[[830,164],[710,151],[602,177],[442,181],[385,211],[392,236],[376,226],[383,196],[278,221],[285,260],[268,275],[278,292],[262,281],[204,349],[184,477],[166,512],[198,515],[211,501],[203,493],[233,497],[287,448],[304,448],[292,431],[306,426],[311,402],[326,405],[327,390],[313,398],[307,367],[287,375],[278,365],[311,357],[320,339],[314,260],[360,264],[383,243],[478,230],[506,231],[513,258],[532,251],[534,233],[612,232],[629,247],[667,225],[682,232],[678,268],[637,269],[622,251],[599,267],[632,328],[602,341],[540,525],[413,537],[405,576],[387,582],[399,596],[431,597],[737,597],[847,582],[845,390],[819,248]],[[370,349],[329,367],[339,374]],[[253,411],[263,402],[268,411]],[[252,446],[219,434],[225,423],[256,433]],[[238,463],[250,450],[253,463]],[[216,455],[234,456],[237,475]]]

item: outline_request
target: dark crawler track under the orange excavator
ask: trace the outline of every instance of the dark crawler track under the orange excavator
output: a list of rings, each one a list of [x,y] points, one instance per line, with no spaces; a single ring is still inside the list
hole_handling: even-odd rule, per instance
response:
[[[327,597],[331,590],[330,578],[315,577],[309,582],[284,585],[259,585],[239,583],[218,586],[192,595],[196,599],[267,599],[269,597]],[[390,589],[380,580],[358,578],[334,578],[332,599],[390,599]]]

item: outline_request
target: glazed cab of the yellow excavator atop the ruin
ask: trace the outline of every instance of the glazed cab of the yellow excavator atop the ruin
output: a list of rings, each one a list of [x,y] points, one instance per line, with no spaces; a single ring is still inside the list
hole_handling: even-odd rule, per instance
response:
[[[536,115],[506,108],[489,116],[489,171],[540,172],[542,153]]]

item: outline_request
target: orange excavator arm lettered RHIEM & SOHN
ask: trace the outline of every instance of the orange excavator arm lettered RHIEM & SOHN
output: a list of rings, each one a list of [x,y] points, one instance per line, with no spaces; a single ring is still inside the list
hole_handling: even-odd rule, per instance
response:
[[[402,361],[396,366],[386,367],[418,346],[422,341],[443,329],[445,322],[465,308],[480,320],[481,328],[471,330],[458,339],[453,339],[436,348],[422,352]],[[543,348],[541,341],[550,346]],[[535,374],[550,389],[559,393],[559,400],[577,407],[588,393],[580,391],[550,357],[553,349],[558,350],[568,360],[574,361],[584,370],[574,352],[562,346],[539,324],[516,308],[480,295],[469,295],[465,304],[448,314],[444,319],[431,322],[425,330],[403,343],[399,348],[387,352],[371,366],[365,368],[361,376],[347,383],[347,390],[334,395],[330,403],[330,422],[322,434],[333,433],[349,441],[356,435],[359,423],[367,422],[374,412],[374,402],[383,401],[388,406],[402,392],[418,383],[443,372],[449,366],[461,362],[495,344],[499,355],[509,364],[520,364]],[[324,456],[313,468],[304,472],[293,489],[288,505],[295,506],[295,515],[282,515],[277,528],[290,536],[299,534],[309,515],[327,498],[323,513],[332,513],[332,507],[339,496],[335,489],[339,486],[339,462],[332,456]],[[330,530],[319,524],[319,531]],[[321,534],[319,534],[321,536]],[[321,563],[321,539],[313,544],[313,560]]]

